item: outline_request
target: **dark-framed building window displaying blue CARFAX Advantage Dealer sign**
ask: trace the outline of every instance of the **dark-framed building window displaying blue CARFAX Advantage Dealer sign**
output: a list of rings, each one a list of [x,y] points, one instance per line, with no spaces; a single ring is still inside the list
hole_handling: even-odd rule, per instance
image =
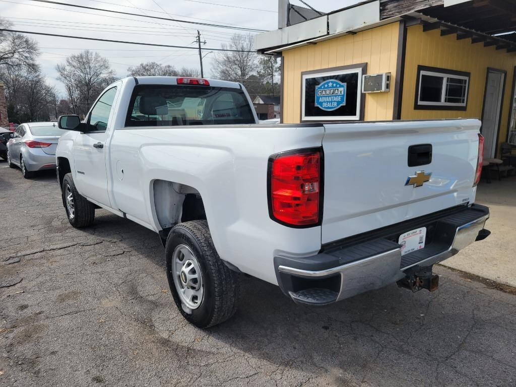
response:
[[[366,63],[301,73],[301,121],[363,120]]]

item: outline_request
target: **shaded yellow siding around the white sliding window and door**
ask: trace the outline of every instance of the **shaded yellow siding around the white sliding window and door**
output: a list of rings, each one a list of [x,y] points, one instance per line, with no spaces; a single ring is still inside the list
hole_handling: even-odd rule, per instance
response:
[[[467,109],[414,110],[417,65],[470,72]],[[471,44],[471,39],[457,40],[456,34],[442,37],[439,29],[423,32],[421,25],[408,27],[401,119],[481,118],[487,69],[492,67],[507,71],[498,144],[504,142],[507,138],[514,66],[514,53],[496,50],[494,46],[484,47],[482,42]]]

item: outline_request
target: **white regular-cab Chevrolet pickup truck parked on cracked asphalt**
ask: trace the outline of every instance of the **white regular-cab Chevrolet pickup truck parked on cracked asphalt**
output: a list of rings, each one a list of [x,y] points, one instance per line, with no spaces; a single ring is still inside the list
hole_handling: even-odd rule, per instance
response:
[[[238,83],[119,80],[84,122],[59,117],[70,223],[102,207],[158,233],[198,327],[232,316],[239,273],[313,305],[394,282],[432,291],[433,264],[489,235],[478,120],[257,122]]]

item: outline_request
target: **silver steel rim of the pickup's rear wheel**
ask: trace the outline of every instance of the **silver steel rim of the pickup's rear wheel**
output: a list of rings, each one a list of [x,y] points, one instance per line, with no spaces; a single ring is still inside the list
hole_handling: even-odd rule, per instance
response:
[[[172,253],[172,276],[181,302],[189,309],[199,308],[204,295],[201,266],[186,245],[178,245]]]

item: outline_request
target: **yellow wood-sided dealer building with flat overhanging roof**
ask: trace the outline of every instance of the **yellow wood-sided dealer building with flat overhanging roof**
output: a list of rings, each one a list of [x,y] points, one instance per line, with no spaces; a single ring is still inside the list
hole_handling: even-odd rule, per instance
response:
[[[284,123],[479,118],[494,157],[516,145],[509,3],[375,0],[319,14],[280,0],[280,28],[256,46],[281,57]]]

